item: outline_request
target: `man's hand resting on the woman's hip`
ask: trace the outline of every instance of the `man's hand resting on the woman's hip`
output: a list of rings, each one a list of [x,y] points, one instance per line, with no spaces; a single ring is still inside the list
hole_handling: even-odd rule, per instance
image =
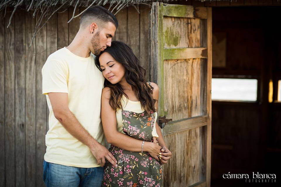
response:
[[[90,148],[92,154],[97,159],[97,164],[104,166],[105,159],[107,159],[114,167],[117,167],[117,160],[102,144],[96,143]]]

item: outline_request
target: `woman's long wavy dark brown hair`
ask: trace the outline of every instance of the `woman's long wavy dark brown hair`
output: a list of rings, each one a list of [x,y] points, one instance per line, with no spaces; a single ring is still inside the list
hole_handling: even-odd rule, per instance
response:
[[[156,112],[155,102],[153,98],[153,87],[145,80],[145,69],[140,66],[140,61],[134,55],[132,49],[121,41],[112,41],[111,46],[107,47],[95,58],[95,65],[100,71],[99,57],[102,53],[109,53],[117,62],[125,67],[125,78],[128,84],[132,86],[135,96],[139,99],[141,107],[150,114],[151,111]],[[111,84],[107,79],[104,81],[104,87],[110,88],[111,96],[109,104],[114,109],[122,109],[122,96],[128,96],[124,93],[122,86],[119,83]]]

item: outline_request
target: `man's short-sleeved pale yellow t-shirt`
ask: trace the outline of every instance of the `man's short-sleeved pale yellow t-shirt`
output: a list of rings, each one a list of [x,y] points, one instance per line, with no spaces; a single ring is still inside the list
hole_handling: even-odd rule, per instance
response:
[[[42,92],[49,107],[49,131],[46,134],[44,160],[74,167],[99,167],[88,146],[74,138],[55,118],[48,94],[68,93],[68,107],[81,125],[99,143],[105,145],[100,118],[102,72],[94,55],[83,58],[65,47],[52,53],[42,68]]]

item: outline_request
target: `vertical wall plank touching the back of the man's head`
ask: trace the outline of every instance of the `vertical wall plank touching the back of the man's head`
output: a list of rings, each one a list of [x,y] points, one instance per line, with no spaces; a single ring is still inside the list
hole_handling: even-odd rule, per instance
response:
[[[72,17],[73,11],[74,11],[74,7],[68,8],[68,20],[70,20],[70,18]],[[79,8],[77,7],[75,10],[75,15],[78,15],[78,14],[79,14]],[[71,22],[68,23],[68,25],[69,25],[69,27],[68,27],[68,45],[72,42],[72,40],[74,39],[74,37],[76,36],[76,34],[79,30],[79,21],[80,21],[80,17],[75,18]]]

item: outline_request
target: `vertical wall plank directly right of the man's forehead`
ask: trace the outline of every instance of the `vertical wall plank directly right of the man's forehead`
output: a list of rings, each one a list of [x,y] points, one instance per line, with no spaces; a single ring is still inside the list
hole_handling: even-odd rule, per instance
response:
[[[116,14],[118,28],[114,36],[114,40],[122,41],[125,44],[127,44],[127,13],[128,8],[124,8]]]

